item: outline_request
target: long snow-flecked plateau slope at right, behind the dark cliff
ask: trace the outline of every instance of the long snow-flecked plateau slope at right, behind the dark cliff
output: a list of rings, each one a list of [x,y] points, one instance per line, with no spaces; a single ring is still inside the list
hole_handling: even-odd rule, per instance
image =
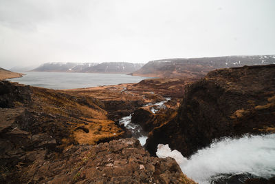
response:
[[[190,59],[162,59],[146,63],[137,76],[201,78],[219,68],[241,67],[243,65],[268,65],[275,63],[275,55],[230,56]]]

